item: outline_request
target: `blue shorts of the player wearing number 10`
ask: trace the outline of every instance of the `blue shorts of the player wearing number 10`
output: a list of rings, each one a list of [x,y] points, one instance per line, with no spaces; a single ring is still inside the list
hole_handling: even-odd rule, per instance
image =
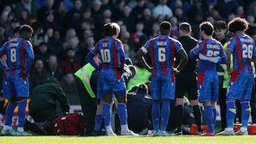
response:
[[[125,80],[117,70],[103,68],[99,78],[103,95],[114,93],[115,97],[118,97],[126,94]]]

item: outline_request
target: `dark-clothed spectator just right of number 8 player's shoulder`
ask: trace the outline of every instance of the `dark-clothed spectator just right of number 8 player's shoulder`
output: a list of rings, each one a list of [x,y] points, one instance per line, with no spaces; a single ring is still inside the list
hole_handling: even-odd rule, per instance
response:
[[[40,43],[38,47],[38,52],[35,54],[35,59],[42,59],[43,63],[46,63],[48,60],[49,54],[48,54],[48,47],[45,42]]]

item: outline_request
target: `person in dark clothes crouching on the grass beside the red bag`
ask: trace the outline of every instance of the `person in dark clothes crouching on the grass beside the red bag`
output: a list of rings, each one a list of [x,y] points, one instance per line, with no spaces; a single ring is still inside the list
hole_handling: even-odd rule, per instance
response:
[[[32,91],[29,103],[29,115],[35,122],[43,122],[47,133],[51,132],[53,121],[58,117],[56,114],[56,102],[61,104],[63,114],[69,112],[69,104],[64,91],[54,77],[45,78],[41,85]]]

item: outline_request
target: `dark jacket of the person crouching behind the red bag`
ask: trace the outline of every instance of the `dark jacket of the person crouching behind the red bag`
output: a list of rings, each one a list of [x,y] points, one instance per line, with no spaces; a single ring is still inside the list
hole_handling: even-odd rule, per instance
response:
[[[29,113],[33,114],[41,110],[55,110],[56,100],[61,104],[62,112],[69,111],[69,104],[64,91],[58,85],[56,78],[46,78],[41,85],[32,91],[29,103]]]

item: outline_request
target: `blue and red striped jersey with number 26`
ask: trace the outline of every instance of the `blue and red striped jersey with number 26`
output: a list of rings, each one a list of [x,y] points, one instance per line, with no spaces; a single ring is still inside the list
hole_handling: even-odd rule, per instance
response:
[[[234,70],[253,72],[251,61],[256,54],[253,38],[246,34],[237,34],[227,42],[227,49],[233,51]]]

